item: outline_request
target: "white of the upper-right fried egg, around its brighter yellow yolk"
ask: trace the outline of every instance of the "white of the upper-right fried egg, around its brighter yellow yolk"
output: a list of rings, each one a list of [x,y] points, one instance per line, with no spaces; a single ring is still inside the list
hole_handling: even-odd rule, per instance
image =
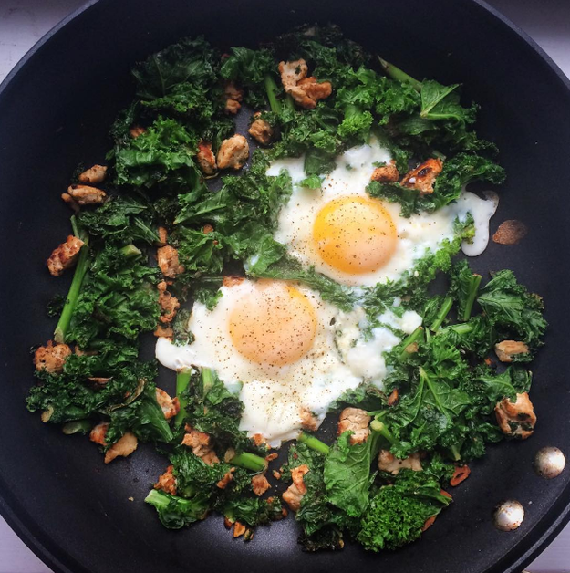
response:
[[[467,255],[480,255],[489,240],[489,219],[496,209],[496,201],[480,199],[474,193],[464,191],[457,202],[435,213],[412,214],[409,218],[400,216],[398,203],[383,202],[396,226],[398,240],[394,254],[376,271],[350,274],[323,260],[313,238],[317,214],[326,203],[340,197],[368,197],[366,187],[375,169],[374,163],[384,163],[389,159],[389,151],[380,147],[378,141],[349,149],[337,157],[337,167],[326,175],[320,190],[299,185],[305,178],[303,157],[274,161],[267,169],[267,175],[275,176],[285,170],[294,184],[290,200],[279,213],[275,240],[286,245],[288,254],[304,266],[315,266],[318,272],[344,285],[369,287],[398,280],[429,250],[436,251],[443,241],[451,240],[455,220],[459,218],[464,222],[467,214],[471,213],[475,222],[475,237],[472,243],[466,243],[463,247]]]

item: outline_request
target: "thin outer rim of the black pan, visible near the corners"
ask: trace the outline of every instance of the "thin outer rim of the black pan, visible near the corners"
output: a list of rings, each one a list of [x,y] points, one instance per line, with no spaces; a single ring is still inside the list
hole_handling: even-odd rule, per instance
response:
[[[38,51],[47,46],[50,40],[56,36],[60,30],[76,20],[78,16],[88,12],[88,10],[95,5],[103,4],[106,1],[109,2],[109,0],[88,0],[86,4],[79,6],[56,26],[53,26],[44,36],[38,39],[36,44],[30,47],[26,54],[16,63],[16,66],[10,70],[5,79],[0,83],[0,105],[2,105],[4,93],[10,88],[13,80],[26,68],[28,63],[36,57]],[[505,33],[512,34],[513,36],[511,37],[518,36],[528,47],[532,48],[534,53],[544,62],[547,68],[549,68],[550,72],[554,72],[556,80],[561,83],[562,89],[565,89],[565,95],[570,102],[570,78],[565,76],[562,69],[544,52],[542,47],[538,46],[531,36],[524,32],[519,26],[513,24],[507,16],[504,16],[499,10],[484,0],[462,0],[462,2],[476,5],[477,9],[482,10],[482,12],[498,20],[503,26]],[[566,486],[564,493],[570,497],[570,484]],[[0,477],[0,516],[5,519],[8,526],[12,528],[36,557],[40,558],[47,567],[56,573],[78,573],[78,571],[86,570],[75,557],[67,551],[63,551],[55,540],[48,537],[46,532],[34,531],[36,526],[34,517],[29,515],[16,500],[10,500],[10,496],[9,486],[5,483],[5,480]],[[559,507],[561,497],[562,495],[541,520],[542,522],[550,522],[550,524],[546,526],[544,532],[534,540],[531,547],[526,548],[523,553],[516,558],[516,561],[504,569],[504,573],[518,572],[531,563],[534,558],[538,557],[548,544],[554,540],[554,537],[560,533],[564,526],[570,522],[570,499],[568,500],[569,503],[565,503],[561,510]],[[551,521],[553,515],[555,517]],[[515,552],[518,554],[519,551],[520,547],[517,546],[513,548],[511,553]],[[508,555],[505,557],[508,557]]]

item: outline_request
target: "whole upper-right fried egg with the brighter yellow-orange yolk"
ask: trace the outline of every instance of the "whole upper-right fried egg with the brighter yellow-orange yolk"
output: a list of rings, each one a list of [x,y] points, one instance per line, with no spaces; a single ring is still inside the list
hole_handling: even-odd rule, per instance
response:
[[[473,242],[469,255],[482,253],[489,240],[489,219],[496,201],[463,192],[457,202],[432,214],[400,216],[398,203],[370,197],[366,187],[375,164],[389,161],[389,152],[371,141],[337,158],[321,189],[307,189],[304,158],[274,161],[267,175],[289,172],[294,183],[290,200],[281,209],[274,238],[305,266],[338,283],[369,287],[397,280],[429,250],[436,251],[454,237],[454,223],[472,214]]]

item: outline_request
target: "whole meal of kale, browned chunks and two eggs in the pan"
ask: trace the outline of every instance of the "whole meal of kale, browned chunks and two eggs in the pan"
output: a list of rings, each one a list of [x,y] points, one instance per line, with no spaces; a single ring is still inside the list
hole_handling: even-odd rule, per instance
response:
[[[106,463],[169,451],[146,499],[167,527],[214,512],[249,540],[288,509],[307,550],[420,537],[487,443],[536,422],[540,297],[453,259],[482,253],[498,202],[466,185],[504,178],[477,106],[333,26],[182,40],[133,75],[107,164],[62,195],[47,266],[75,271],[28,408]]]

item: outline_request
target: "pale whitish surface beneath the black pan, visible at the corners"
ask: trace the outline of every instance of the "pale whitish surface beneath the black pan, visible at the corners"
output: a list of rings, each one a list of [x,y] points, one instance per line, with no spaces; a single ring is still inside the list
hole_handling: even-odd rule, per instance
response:
[[[532,36],[570,77],[570,0],[489,1]],[[0,80],[41,36],[83,3],[83,0],[0,0]],[[533,573],[570,572],[570,526],[528,569]],[[0,573],[50,573],[2,517]]]

